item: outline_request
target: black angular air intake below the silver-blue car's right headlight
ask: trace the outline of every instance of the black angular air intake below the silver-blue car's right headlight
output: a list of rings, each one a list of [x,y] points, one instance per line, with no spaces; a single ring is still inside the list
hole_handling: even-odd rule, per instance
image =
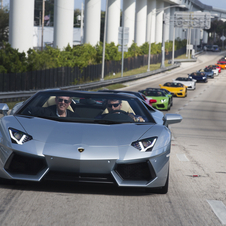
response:
[[[124,180],[150,181],[156,177],[153,167],[148,162],[118,164],[115,172]]]

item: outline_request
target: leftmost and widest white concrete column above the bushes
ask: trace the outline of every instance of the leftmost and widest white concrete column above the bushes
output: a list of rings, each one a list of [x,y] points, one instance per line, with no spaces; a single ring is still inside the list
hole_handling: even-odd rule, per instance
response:
[[[10,0],[9,44],[19,52],[33,48],[34,0]]]

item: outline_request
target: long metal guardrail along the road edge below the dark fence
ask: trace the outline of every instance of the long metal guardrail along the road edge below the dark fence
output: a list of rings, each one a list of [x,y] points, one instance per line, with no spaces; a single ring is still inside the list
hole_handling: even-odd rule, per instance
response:
[[[177,62],[174,65],[171,65],[169,67],[163,68],[163,69],[157,69],[154,71],[149,71],[141,74],[136,74],[136,75],[130,75],[126,77],[120,77],[120,78],[115,78],[111,80],[104,80],[104,81],[97,81],[97,82],[90,82],[90,83],[85,83],[85,84],[79,84],[79,85],[73,85],[73,86],[65,86],[65,87],[60,87],[62,90],[90,90],[90,89],[97,89],[101,88],[104,86],[112,85],[112,84],[117,84],[117,83],[123,83],[123,82],[128,82],[132,80],[137,80],[140,78],[145,78],[148,76],[152,76],[155,74],[159,74],[165,71],[169,71],[175,68],[180,67],[181,63]],[[30,91],[17,91],[17,92],[0,92],[0,102],[13,102],[13,101],[21,101],[29,98],[30,96],[34,95],[38,91],[41,90],[30,90]]]

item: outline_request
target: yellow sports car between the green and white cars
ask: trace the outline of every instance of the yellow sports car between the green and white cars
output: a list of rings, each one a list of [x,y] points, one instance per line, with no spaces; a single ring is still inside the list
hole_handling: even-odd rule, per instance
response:
[[[186,97],[187,86],[179,82],[167,82],[164,85],[159,85],[161,89],[167,89],[175,97]]]

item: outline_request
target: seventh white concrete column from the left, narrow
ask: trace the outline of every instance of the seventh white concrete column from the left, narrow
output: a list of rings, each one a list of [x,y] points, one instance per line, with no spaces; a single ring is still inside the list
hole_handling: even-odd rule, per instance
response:
[[[156,0],[147,0],[147,41],[155,42]]]

